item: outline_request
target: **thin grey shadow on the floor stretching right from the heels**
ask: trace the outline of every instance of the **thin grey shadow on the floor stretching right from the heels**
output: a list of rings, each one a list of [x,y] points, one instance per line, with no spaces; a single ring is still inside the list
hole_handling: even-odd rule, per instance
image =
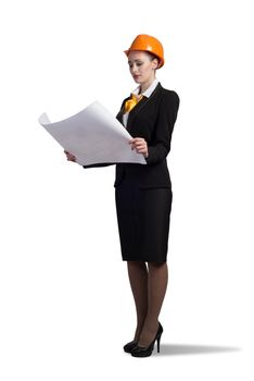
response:
[[[221,352],[236,352],[241,348],[229,346],[215,345],[196,345],[196,344],[161,344],[160,356],[179,356],[179,355],[201,355]],[[157,354],[156,344],[154,345],[154,353]]]

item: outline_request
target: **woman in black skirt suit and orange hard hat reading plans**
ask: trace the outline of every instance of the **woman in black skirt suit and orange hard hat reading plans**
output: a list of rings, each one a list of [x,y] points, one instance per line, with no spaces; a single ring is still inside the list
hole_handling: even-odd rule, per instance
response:
[[[172,210],[172,183],[166,157],[177,119],[179,97],[162,87],[156,70],[164,65],[162,44],[138,35],[125,50],[129,71],[139,84],[127,97],[117,120],[134,137],[131,149],[147,164],[116,163],[115,202],[122,248],[137,311],[134,340],[124,351],[135,357],[150,356],[163,328],[158,321],[167,288],[167,243]],[[75,157],[66,152],[67,160]],[[110,163],[84,165],[105,167]],[[147,263],[148,262],[148,267]]]

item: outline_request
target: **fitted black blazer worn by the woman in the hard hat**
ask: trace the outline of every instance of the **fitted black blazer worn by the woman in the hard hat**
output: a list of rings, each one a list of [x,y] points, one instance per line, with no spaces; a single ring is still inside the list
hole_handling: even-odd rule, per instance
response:
[[[123,124],[124,99],[116,119]],[[172,134],[179,109],[179,96],[157,84],[149,98],[143,97],[129,112],[126,130],[132,137],[143,137],[148,143],[147,164],[116,163],[117,187],[125,175],[137,179],[141,188],[172,187],[166,157],[170,150]],[[113,163],[82,165],[84,168],[106,167]]]

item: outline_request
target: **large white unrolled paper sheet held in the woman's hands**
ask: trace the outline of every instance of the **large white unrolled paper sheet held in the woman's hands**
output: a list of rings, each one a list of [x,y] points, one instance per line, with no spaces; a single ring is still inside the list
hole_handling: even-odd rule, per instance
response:
[[[80,165],[147,164],[142,153],[131,150],[128,142],[132,136],[98,100],[60,122],[51,123],[47,113],[42,113],[38,121],[65,150],[75,155]]]

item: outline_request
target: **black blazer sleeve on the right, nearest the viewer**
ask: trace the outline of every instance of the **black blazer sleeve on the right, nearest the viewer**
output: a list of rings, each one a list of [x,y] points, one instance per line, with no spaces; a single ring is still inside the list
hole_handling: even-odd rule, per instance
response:
[[[148,164],[156,164],[166,158],[170,150],[172,133],[177,119],[180,99],[176,91],[166,91],[160,103],[154,130],[153,144],[148,146]]]

